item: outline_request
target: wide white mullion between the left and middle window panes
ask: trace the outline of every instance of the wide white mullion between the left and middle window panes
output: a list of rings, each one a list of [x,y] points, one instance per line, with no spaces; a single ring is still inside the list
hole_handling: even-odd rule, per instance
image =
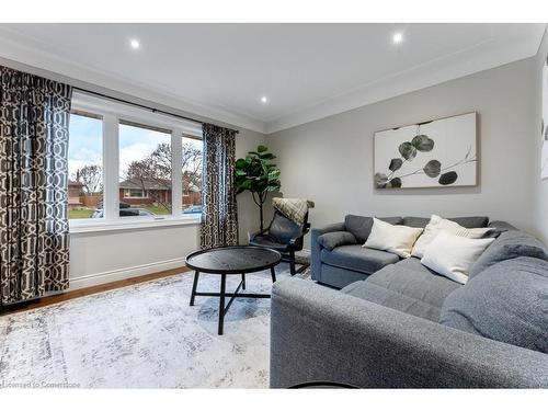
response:
[[[119,217],[118,197],[118,118],[106,114],[103,118],[103,147],[104,147],[104,201],[103,210],[106,221]]]

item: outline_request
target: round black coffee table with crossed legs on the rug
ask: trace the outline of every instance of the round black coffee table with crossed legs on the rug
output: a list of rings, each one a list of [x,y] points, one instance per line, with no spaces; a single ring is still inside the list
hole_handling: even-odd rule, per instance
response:
[[[219,247],[215,249],[196,251],[186,258],[186,266],[195,271],[192,284],[191,306],[194,306],[196,296],[219,297],[219,335],[222,334],[225,316],[236,297],[270,298],[270,294],[239,293],[246,289],[246,274],[271,269],[272,282],[276,281],[274,267],[282,260],[282,254],[271,249],[252,246]],[[196,290],[199,273],[220,275],[220,293],[199,293]],[[227,275],[241,275],[241,281],[233,293],[226,292]],[[225,307],[225,298],[230,297]]]

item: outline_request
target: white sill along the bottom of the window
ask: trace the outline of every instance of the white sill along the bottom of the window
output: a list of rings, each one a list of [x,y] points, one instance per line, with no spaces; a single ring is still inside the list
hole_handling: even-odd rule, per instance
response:
[[[157,229],[157,228],[173,227],[173,226],[196,226],[201,221],[201,217],[142,219],[142,220],[139,220],[138,218],[129,218],[129,219],[130,220],[128,221],[99,221],[99,222],[78,221],[76,224],[70,222],[69,232],[70,235],[79,235],[85,232]]]

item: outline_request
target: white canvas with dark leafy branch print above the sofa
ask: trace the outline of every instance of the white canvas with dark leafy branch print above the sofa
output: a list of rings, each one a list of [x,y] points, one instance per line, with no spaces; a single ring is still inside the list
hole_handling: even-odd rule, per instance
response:
[[[377,189],[477,184],[476,113],[377,132],[374,145]]]

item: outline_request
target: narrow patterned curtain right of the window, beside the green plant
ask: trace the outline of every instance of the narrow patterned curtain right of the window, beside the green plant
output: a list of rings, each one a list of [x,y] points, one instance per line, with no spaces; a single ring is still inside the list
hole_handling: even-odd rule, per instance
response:
[[[236,246],[238,212],[236,206],[236,132],[204,124],[204,165],[202,171],[201,247]]]

